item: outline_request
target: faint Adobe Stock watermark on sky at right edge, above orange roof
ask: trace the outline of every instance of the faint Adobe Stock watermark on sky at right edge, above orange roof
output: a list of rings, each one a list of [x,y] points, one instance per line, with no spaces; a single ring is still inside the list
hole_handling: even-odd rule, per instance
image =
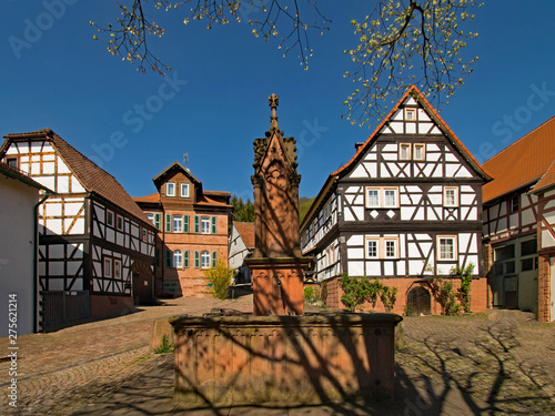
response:
[[[492,125],[492,133],[501,138],[500,143],[503,148],[511,144],[516,133],[518,133],[526,123],[532,120],[533,113],[541,111],[555,97],[555,91],[547,89],[547,82],[542,82],[539,87],[529,85],[531,94],[526,103],[515,109],[512,114],[504,114],[503,118]],[[484,160],[497,154],[502,149],[496,148],[492,142],[484,142],[480,145],[480,155]]]

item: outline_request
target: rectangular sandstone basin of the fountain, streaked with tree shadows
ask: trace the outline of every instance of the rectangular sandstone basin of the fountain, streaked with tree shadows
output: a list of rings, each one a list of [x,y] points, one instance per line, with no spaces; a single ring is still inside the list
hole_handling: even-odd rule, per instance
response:
[[[393,398],[393,314],[175,317],[189,408]]]

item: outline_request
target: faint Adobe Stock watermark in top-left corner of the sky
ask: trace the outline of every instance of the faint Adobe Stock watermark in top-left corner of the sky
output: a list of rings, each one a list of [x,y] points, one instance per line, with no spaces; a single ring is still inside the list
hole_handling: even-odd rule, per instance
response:
[[[68,6],[73,6],[78,0],[44,0],[42,7],[44,11],[40,12],[34,19],[24,19],[23,39],[10,35],[8,43],[17,59],[21,59],[23,49],[31,49],[34,43],[42,39],[46,31],[50,30],[57,20],[65,14]]]

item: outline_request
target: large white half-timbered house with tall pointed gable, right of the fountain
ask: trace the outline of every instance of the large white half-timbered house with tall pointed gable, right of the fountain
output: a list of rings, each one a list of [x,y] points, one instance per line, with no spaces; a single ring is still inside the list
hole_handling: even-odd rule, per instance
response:
[[[437,276],[475,266],[472,311],[486,308],[482,184],[490,175],[412,87],[355,155],[333,172],[301,225],[303,255],[342,306],[343,274],[397,287],[393,311],[441,313]],[[374,306],[383,310],[379,303]]]

